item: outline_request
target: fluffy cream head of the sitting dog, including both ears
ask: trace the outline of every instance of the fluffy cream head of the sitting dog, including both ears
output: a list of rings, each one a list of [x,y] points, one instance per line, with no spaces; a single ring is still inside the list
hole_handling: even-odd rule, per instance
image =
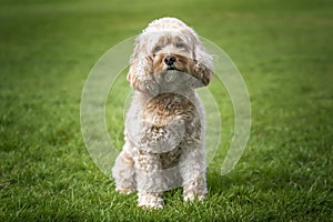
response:
[[[135,39],[127,79],[133,89],[145,91],[151,87],[148,82],[165,83],[172,73],[186,79],[188,73],[199,80],[192,84],[198,88],[209,84],[212,63],[193,29],[178,19],[163,18],[151,22]]]

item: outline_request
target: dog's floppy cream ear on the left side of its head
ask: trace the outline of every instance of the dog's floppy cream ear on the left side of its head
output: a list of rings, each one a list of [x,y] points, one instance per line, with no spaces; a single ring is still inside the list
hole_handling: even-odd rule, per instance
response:
[[[127,80],[134,90],[144,90],[143,81],[149,77],[152,70],[152,60],[147,52],[147,41],[143,34],[135,39],[134,52],[131,56],[130,69]]]

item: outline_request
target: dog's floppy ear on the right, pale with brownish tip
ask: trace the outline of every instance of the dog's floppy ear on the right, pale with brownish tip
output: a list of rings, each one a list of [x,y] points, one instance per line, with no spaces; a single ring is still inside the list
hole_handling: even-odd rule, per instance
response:
[[[201,87],[208,85],[213,78],[213,57],[206,52],[198,39],[194,44],[194,72],[201,80]]]

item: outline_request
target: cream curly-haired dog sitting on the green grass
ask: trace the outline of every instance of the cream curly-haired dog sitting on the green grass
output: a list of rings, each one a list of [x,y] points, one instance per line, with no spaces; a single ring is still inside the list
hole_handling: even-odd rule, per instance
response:
[[[210,82],[212,63],[178,19],[154,20],[137,38],[127,77],[134,94],[112,175],[117,191],[138,190],[139,206],[163,208],[162,192],[179,185],[185,201],[206,194],[205,119],[195,89]]]

